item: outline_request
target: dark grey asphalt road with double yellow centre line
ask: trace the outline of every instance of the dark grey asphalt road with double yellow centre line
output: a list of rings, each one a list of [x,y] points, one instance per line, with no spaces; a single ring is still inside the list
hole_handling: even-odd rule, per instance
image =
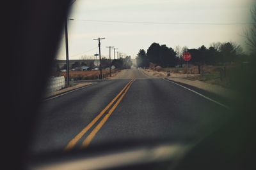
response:
[[[31,152],[117,141],[189,142],[218,128],[227,114],[223,106],[138,69],[116,78],[42,102]]]

